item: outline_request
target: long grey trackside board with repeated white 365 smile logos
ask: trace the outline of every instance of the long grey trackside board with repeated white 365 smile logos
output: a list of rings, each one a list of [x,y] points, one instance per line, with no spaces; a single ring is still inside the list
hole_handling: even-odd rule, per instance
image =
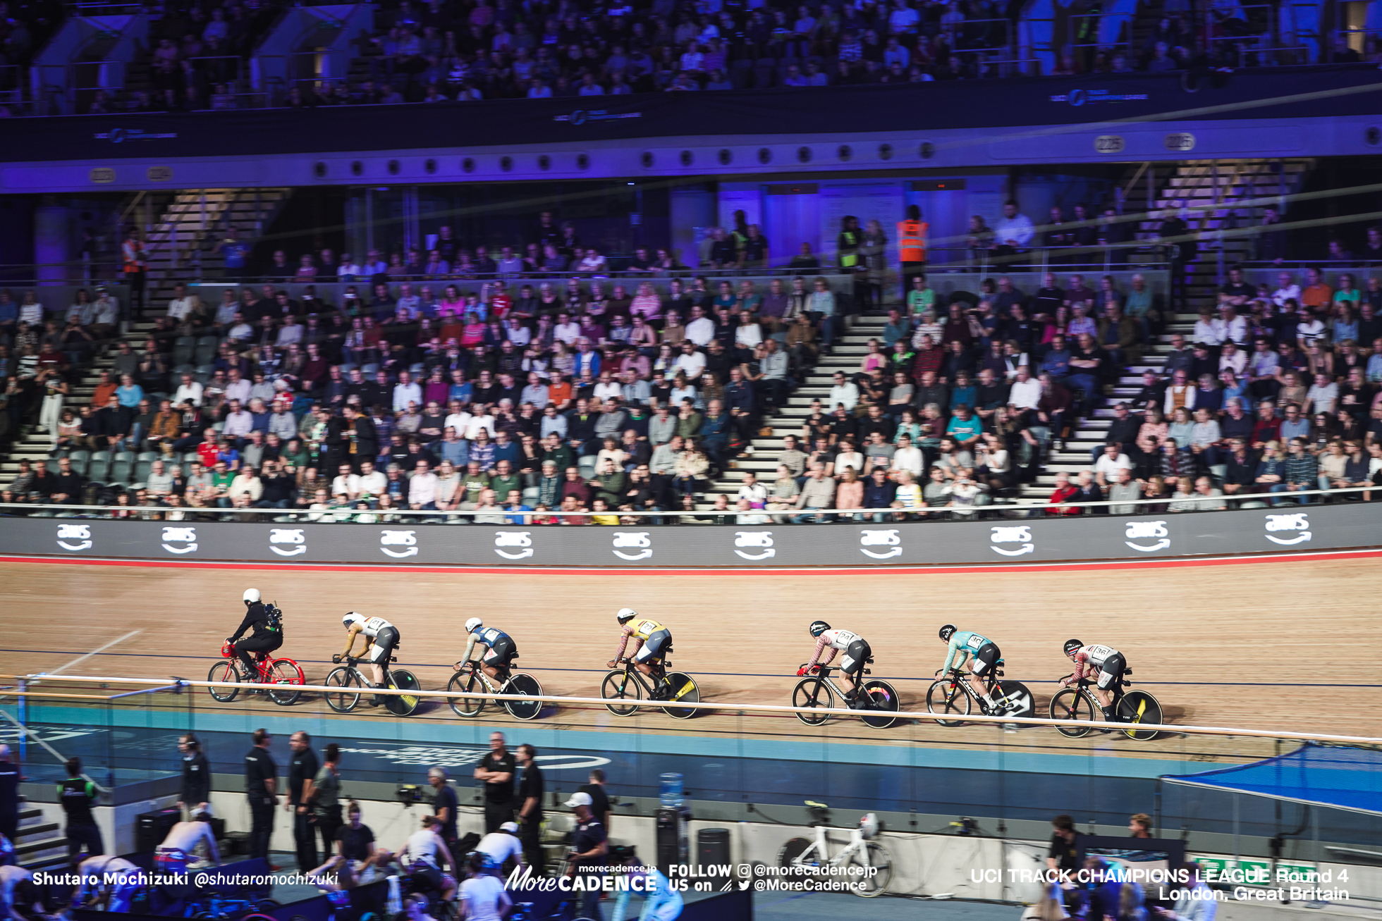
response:
[[[0,519],[0,555],[256,563],[797,568],[1048,563],[1382,547],[1379,507],[833,525],[164,523]]]

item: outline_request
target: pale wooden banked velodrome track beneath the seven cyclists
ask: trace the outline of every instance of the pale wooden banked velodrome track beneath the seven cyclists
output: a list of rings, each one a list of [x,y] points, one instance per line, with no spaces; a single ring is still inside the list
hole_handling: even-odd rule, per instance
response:
[[[795,670],[813,648],[806,627],[824,619],[869,639],[873,674],[894,681],[904,708],[925,710],[922,678],[944,655],[937,630],[955,623],[1001,645],[1007,677],[1036,693],[1036,715],[1045,715],[1050,682],[1070,671],[1060,652],[1070,637],[1124,650],[1137,686],[1157,695],[1168,722],[1371,736],[1382,712],[1382,565],[1368,556],[920,574],[482,574],[4,562],[0,672],[55,670],[140,631],[68,672],[205,678],[223,638],[239,623],[240,594],[249,587],[285,610],[281,655],[303,663],[308,684],[325,678],[332,653],[344,643],[341,614],[361,610],[397,624],[399,663],[424,688],[442,689],[451,663],[464,650],[462,624],[478,614],[515,638],[517,664],[533,670],[547,693],[598,696],[604,664],[618,646],[614,612],[632,606],[670,627],[674,667],[699,679],[702,700],[789,703]],[[205,695],[199,700],[224,708]],[[261,699],[232,706],[287,712]],[[319,700],[299,706],[326,710]],[[387,718],[380,712],[365,710],[359,718]],[[445,707],[430,715],[456,719]],[[680,722],[656,711],[619,719],[601,707],[568,707],[560,722],[756,737],[820,733],[785,714]],[[1046,751],[1090,744],[1050,729],[1024,732],[1024,740],[998,739],[1003,733],[994,726],[920,724],[890,736],[898,729],[832,721],[828,729],[833,740],[873,743],[1032,744]],[[1100,739],[1100,751],[1113,747],[1108,754],[1133,757],[1218,761],[1273,751],[1270,740],[1092,739]]]

